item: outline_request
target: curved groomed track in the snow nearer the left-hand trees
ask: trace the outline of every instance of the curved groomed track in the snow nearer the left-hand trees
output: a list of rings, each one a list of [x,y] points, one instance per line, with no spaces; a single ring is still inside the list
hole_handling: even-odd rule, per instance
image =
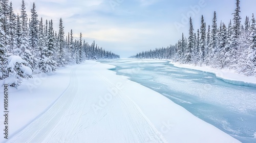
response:
[[[41,142],[56,126],[63,113],[69,108],[76,95],[76,69],[70,72],[70,83],[57,101],[22,131],[12,136],[7,142]]]

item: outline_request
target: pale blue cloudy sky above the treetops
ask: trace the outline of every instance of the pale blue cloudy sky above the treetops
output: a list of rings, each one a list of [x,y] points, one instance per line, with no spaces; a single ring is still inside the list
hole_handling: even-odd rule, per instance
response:
[[[12,1],[20,13],[22,1]],[[65,35],[72,29],[75,37],[82,33],[90,44],[127,58],[136,53],[176,44],[182,33],[188,37],[191,16],[196,32],[201,15],[211,25],[214,11],[217,22],[228,24],[236,8],[236,0],[25,0],[30,18],[35,3],[38,18],[52,19],[58,31],[62,18]],[[241,0],[241,17],[256,14],[255,0]]]

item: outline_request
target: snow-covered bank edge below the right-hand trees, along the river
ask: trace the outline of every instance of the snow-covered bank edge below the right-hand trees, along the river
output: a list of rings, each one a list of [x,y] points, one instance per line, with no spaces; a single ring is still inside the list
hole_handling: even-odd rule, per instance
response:
[[[179,68],[187,68],[187,69],[203,71],[205,73],[215,74],[217,78],[222,79],[227,83],[256,87],[256,77],[253,77],[253,76],[247,77],[243,74],[237,74],[232,69],[228,69],[228,68],[216,69],[210,66],[200,67],[200,66],[195,66],[191,64],[180,64],[173,61],[169,61],[169,63]]]

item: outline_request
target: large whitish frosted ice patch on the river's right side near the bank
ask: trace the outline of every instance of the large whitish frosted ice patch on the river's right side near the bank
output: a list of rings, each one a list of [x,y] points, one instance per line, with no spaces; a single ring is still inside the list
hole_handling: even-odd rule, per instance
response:
[[[156,82],[165,84],[172,91],[199,98],[201,101],[224,105],[239,112],[248,113],[256,110],[255,90],[245,87],[224,87],[222,85],[201,84],[188,79],[178,79],[174,76],[156,75]]]

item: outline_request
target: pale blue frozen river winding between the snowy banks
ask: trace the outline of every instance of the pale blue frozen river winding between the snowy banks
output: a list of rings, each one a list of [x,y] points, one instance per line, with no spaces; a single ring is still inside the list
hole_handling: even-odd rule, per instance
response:
[[[256,88],[160,60],[100,60],[242,142],[256,142]],[[168,114],[168,113],[166,113]],[[198,127],[200,128],[200,127]]]

